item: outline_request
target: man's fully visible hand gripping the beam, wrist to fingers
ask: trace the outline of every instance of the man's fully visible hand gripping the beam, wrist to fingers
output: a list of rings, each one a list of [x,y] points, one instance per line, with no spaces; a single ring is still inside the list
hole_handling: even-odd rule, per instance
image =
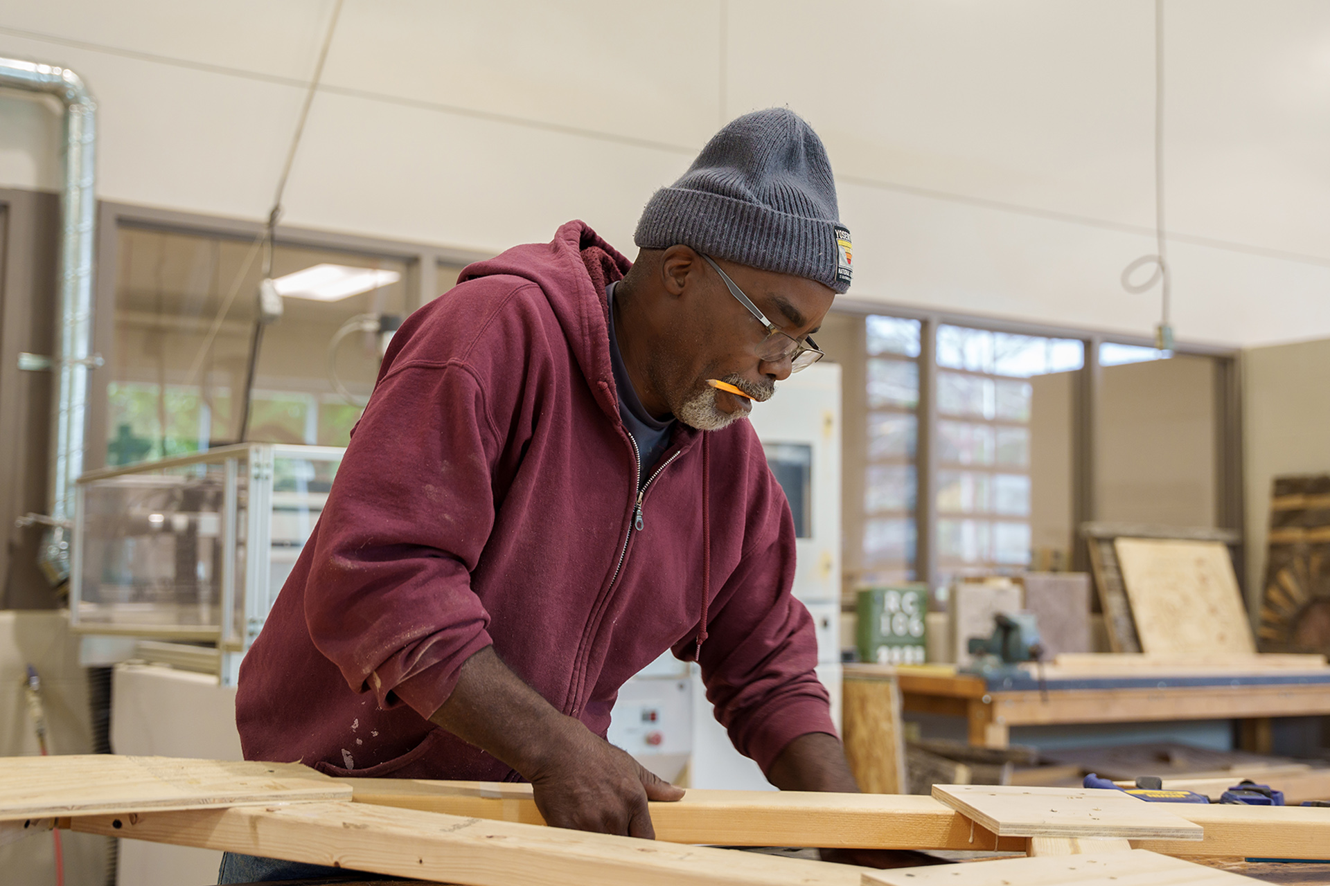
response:
[[[563,735],[551,736],[549,756],[528,776],[545,824],[654,840],[646,801],[678,800],[684,789],[661,781],[580,721],[564,720]]]

